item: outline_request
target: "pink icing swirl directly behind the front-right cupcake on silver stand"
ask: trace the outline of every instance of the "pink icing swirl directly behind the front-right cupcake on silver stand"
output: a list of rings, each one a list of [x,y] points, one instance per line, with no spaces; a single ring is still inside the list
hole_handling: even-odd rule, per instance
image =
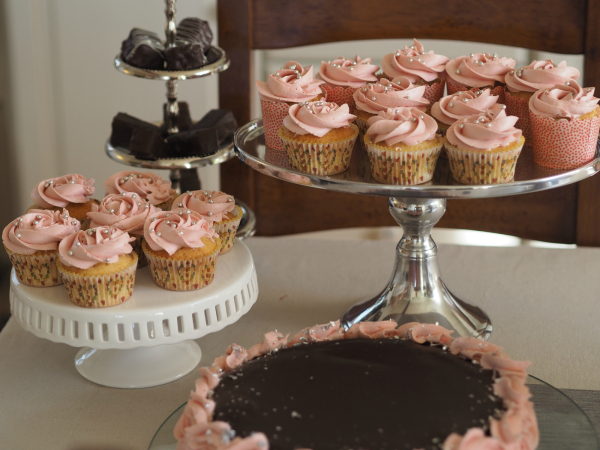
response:
[[[465,119],[473,114],[481,114],[491,109],[494,114],[505,109],[506,106],[496,103],[497,95],[491,95],[489,89],[482,91],[459,91],[456,94],[442,97],[431,107],[431,115],[442,123],[452,125],[460,119]]]

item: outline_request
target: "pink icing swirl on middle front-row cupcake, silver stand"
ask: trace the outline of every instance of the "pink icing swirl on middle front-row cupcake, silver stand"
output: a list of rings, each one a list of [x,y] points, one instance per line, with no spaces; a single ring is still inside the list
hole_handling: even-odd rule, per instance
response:
[[[371,117],[367,124],[366,135],[387,145],[417,145],[433,139],[438,129],[435,119],[416,108],[390,108]]]

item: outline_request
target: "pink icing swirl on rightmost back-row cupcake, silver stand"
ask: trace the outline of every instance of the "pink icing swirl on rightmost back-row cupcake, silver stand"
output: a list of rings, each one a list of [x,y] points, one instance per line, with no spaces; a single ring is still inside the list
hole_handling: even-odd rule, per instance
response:
[[[567,66],[566,61],[561,61],[556,65],[551,59],[546,59],[533,61],[519,70],[511,70],[506,74],[505,82],[510,91],[535,92],[577,79],[579,79],[579,70]]]

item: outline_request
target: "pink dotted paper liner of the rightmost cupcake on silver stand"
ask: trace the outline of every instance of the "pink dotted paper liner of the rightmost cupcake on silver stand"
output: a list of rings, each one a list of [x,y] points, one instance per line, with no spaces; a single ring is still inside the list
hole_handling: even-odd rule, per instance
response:
[[[536,164],[550,169],[575,169],[594,159],[600,116],[556,120],[529,111],[529,120]]]

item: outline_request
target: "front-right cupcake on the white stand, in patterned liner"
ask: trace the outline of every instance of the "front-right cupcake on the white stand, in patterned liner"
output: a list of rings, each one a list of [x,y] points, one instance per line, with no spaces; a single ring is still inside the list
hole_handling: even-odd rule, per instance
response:
[[[212,283],[221,240],[195,212],[160,211],[146,220],[142,247],[157,286],[192,291]]]

